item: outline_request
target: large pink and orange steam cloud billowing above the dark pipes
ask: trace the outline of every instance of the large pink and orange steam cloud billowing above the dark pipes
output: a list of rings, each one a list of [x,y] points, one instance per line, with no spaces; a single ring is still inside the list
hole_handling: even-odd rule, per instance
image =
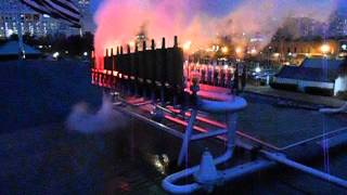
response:
[[[103,56],[106,48],[128,43],[141,28],[157,42],[177,35],[195,49],[228,35],[261,35],[266,46],[287,17],[325,22],[336,4],[337,0],[104,0],[94,16],[95,54]]]

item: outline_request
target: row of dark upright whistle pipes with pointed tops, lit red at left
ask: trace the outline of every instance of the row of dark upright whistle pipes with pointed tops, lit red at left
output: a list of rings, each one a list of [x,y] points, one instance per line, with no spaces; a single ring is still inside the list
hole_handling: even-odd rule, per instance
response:
[[[146,41],[140,44],[141,50],[139,44],[136,44],[133,51],[129,44],[126,46],[126,51],[123,46],[117,47],[116,52],[113,49],[106,49],[103,72],[93,68],[95,67],[95,57],[93,57],[93,79],[97,79],[98,83],[100,80],[108,82],[107,87],[123,86],[130,91],[153,93],[159,89],[169,90],[170,94],[182,91],[184,88],[183,50],[178,47],[178,37],[175,37],[171,48],[166,48],[165,38],[162,40],[160,48],[156,48],[154,40],[151,41],[150,48]],[[142,94],[145,95],[145,93]]]

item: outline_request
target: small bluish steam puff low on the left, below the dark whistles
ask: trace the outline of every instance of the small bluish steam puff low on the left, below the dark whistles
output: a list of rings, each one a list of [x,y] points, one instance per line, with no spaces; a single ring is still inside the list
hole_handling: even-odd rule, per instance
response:
[[[113,109],[108,96],[103,98],[102,106],[97,113],[91,112],[86,103],[75,105],[66,120],[68,130],[88,134],[113,131],[125,127],[127,119]]]

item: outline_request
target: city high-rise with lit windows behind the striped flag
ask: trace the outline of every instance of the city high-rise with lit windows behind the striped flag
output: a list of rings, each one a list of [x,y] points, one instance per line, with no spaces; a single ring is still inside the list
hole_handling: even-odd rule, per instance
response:
[[[89,0],[76,0],[82,14],[81,26],[83,31],[93,31],[92,15],[89,10]],[[18,20],[20,18],[20,20]],[[70,27],[66,22],[59,21],[46,14],[29,9],[18,0],[0,0],[0,38],[22,34],[41,37],[48,35],[65,34],[78,35],[80,29]]]

